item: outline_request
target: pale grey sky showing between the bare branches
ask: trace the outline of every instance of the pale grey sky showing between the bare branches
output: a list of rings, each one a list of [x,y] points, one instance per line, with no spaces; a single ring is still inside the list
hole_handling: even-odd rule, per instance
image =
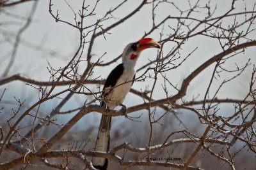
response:
[[[79,10],[82,4],[82,1],[67,2],[76,12]],[[100,1],[99,6],[95,11],[97,15],[92,18],[86,18],[84,23],[92,24],[93,22],[95,22],[95,20],[97,20],[97,18],[101,18],[104,13],[109,10],[109,8],[116,6],[115,3],[109,2],[110,1]],[[52,1],[52,3],[54,4],[52,6],[52,11],[54,14],[56,14],[56,10],[58,10],[60,13],[60,18],[62,20],[67,20],[74,23],[74,13],[72,12],[72,10],[70,10],[65,1]],[[94,1],[86,1],[86,3],[94,4]],[[191,1],[191,3],[195,3],[195,1]],[[205,1],[205,4],[206,3],[207,1]],[[244,3],[246,3],[246,5]],[[237,3],[235,11],[243,11],[245,6],[247,10],[250,11],[252,10],[252,6],[250,6],[250,4],[253,3],[254,1],[243,1],[241,4]],[[102,24],[104,25],[104,27],[107,27],[113,22],[116,22],[118,18],[122,18],[127,15],[127,13],[131,12],[134,9],[134,6],[138,6],[138,4],[140,4],[140,1],[128,1],[128,3],[124,7],[120,8],[119,11],[113,13],[113,17],[115,18],[111,18],[106,22],[102,22]],[[186,10],[189,8],[188,1],[179,1],[176,4],[182,10]],[[223,15],[223,13],[227,11],[227,8],[230,6],[229,1],[214,1],[211,4],[212,6],[217,6],[216,13],[214,14],[215,17]],[[91,5],[89,9],[92,9],[92,7],[93,5]],[[31,3],[24,3],[22,4],[22,6],[15,6],[12,8],[6,8],[4,10],[12,12],[19,17],[26,18],[29,15],[30,8]],[[145,8],[141,9],[135,17],[132,17],[131,19],[125,21],[124,24],[120,25],[119,27],[112,29],[109,32],[111,34],[106,35],[106,40],[103,37],[98,38],[97,41],[95,41],[95,45],[93,46],[93,53],[95,54],[94,59],[98,59],[98,57],[106,52],[106,55],[104,55],[104,58],[102,60],[104,62],[108,62],[109,60],[114,59],[120,53],[122,53],[125,45],[131,43],[132,41],[137,41],[138,39],[140,39],[141,36],[143,36],[143,32],[149,31],[151,28],[151,9],[151,5],[147,5]],[[12,67],[10,74],[22,73],[31,78],[35,78],[36,80],[47,81],[50,76],[46,68],[48,66],[47,62],[49,62],[54,68],[63,67],[65,66],[65,64],[67,64],[68,60],[70,60],[72,55],[74,55],[74,52],[79,45],[79,32],[67,24],[55,22],[54,18],[52,18],[49,14],[48,10],[49,2],[39,1],[38,6],[36,7],[35,16],[33,17],[33,22],[31,23],[31,25],[29,25],[29,28],[26,29],[26,31],[22,34],[22,41],[24,43],[19,45],[15,63]],[[156,23],[158,23],[159,21],[161,21],[161,19],[168,15],[171,15],[173,17],[179,17],[180,13],[176,8],[173,8],[171,4],[170,6],[160,4],[157,8]],[[192,16],[204,19],[204,12],[195,13]],[[243,18],[244,15],[239,15],[236,20],[239,21]],[[1,15],[0,20],[4,22],[13,20],[17,22],[17,24],[24,24],[24,22],[20,22],[19,19],[14,20],[13,18],[6,17],[6,15],[3,14]],[[234,17],[230,17],[229,20],[226,21],[227,22],[223,24],[232,24],[234,22]],[[175,23],[176,20],[170,20],[164,25],[163,30],[165,37],[166,34],[169,34],[170,32],[168,25],[175,27]],[[9,60],[8,56],[10,56],[10,53],[12,52],[13,36],[10,34],[10,30],[16,30],[17,28],[19,27],[17,27],[16,25],[6,25],[1,27],[1,32],[6,32],[5,36],[1,35],[1,39],[10,38],[11,42],[1,43],[0,45],[0,57],[3,61],[0,65],[0,73],[3,73],[3,69],[5,68],[4,66],[6,66]],[[159,40],[160,32],[161,29],[155,31],[149,37]],[[255,34],[250,34],[250,36],[252,39],[255,39]],[[176,44],[168,43],[164,45],[163,52],[168,52],[168,50],[172,49],[174,45]],[[36,48],[38,46],[42,46],[43,48],[45,48],[45,50]],[[173,69],[172,71],[169,71],[167,74],[170,81],[172,81],[173,84],[178,84],[178,87],[180,86],[182,80],[186,78],[186,76],[188,76],[191,71],[196,69],[196,67],[200,66],[200,64],[205,62],[210,57],[221,52],[220,45],[216,39],[212,40],[205,36],[196,36],[195,38],[188,39],[188,41],[186,41],[186,43],[182,46],[182,50],[180,50],[180,60],[184,59],[184,57],[186,57],[195,48],[197,48],[197,50],[192,53],[192,55],[188,58],[188,60],[186,60],[186,62],[184,62],[184,64],[182,64],[182,66],[180,66],[178,69]],[[57,55],[53,55],[52,52],[56,52]],[[145,52],[141,54],[140,59],[138,60],[137,67],[143,66],[145,63],[148,62],[148,59],[155,59],[156,54],[157,52],[155,49],[145,50]],[[84,57],[85,56],[86,52],[84,53]],[[230,69],[234,69],[236,68],[235,62],[239,66],[244,66],[249,58],[251,59],[252,63],[256,63],[255,48],[248,48],[245,53],[237,55],[236,57],[234,57],[234,59],[228,61],[226,63],[226,66],[228,66]],[[120,62],[121,60],[118,60],[118,62],[111,64],[111,66],[104,68],[99,67],[95,69],[95,77],[100,75],[101,78],[106,78],[111,69],[113,69],[113,67],[115,67]],[[83,71],[83,65],[81,65],[80,67],[80,70]],[[202,97],[204,97],[204,93],[209,83],[209,79],[211,78],[213,67],[214,66],[212,65],[211,67],[207,68],[203,73],[201,73],[195,80],[191,82],[191,85],[188,89],[188,96],[184,97],[184,99],[191,99],[191,97],[197,96],[198,94],[200,94],[199,97],[201,99]],[[248,89],[248,82],[250,81],[251,72],[252,67],[248,67],[248,69],[246,69],[244,73],[239,76],[239,78],[236,78],[236,80],[232,81],[231,84],[227,83],[225,87],[223,87],[223,89],[220,91],[218,98],[243,98],[243,96],[245,96],[246,94],[246,90]],[[138,73],[138,75],[140,75],[141,73],[143,73],[143,71]],[[225,74],[225,76],[223,74],[221,78],[218,78],[219,81],[217,81],[214,86],[218,87],[222,80],[231,78],[232,76],[234,76],[234,74]],[[164,90],[161,88],[161,83],[163,82],[159,81],[159,83],[157,83],[157,90],[155,90],[154,92],[155,99],[161,99],[165,97]],[[4,88],[10,86],[15,86],[17,88],[8,88],[6,92],[6,95],[8,96],[15,95],[18,97],[26,98],[30,94],[27,94],[26,92],[36,92],[35,89],[17,81],[5,86],[1,86],[0,88],[1,90],[3,90]],[[148,80],[147,82],[134,83],[133,88],[137,90],[144,90],[145,88],[150,89],[151,86],[152,82]],[[96,89],[97,86],[92,85],[92,87]],[[212,90],[212,92],[214,92],[214,90]],[[170,89],[170,94],[173,93],[175,93],[175,90]],[[129,94],[125,101],[125,104],[127,104],[128,106],[138,104],[138,101],[131,100],[133,98],[134,97]],[[77,103],[77,105],[79,106],[79,104],[83,103],[84,99],[84,96],[76,96],[76,99],[74,99],[74,103]],[[129,101],[133,102],[130,103]],[[140,102],[142,103],[143,101],[140,100]],[[72,106],[75,105],[72,104]],[[69,108],[68,105],[67,108]]]

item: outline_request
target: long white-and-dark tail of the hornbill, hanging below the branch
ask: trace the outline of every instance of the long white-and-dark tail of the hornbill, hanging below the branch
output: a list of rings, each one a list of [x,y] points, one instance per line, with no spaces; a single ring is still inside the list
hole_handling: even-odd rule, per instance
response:
[[[102,115],[100,127],[95,145],[95,151],[107,152],[109,150],[109,133],[111,127],[111,116]],[[107,169],[108,159],[93,157],[93,166],[97,169]]]

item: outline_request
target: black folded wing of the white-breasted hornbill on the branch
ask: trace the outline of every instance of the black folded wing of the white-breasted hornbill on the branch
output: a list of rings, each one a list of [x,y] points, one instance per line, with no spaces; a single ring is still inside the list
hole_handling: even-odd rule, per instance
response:
[[[115,67],[115,69],[113,69],[111,71],[111,73],[108,75],[107,80],[105,81],[104,87],[103,87],[103,92],[102,92],[102,97],[106,97],[111,90],[109,90],[108,92],[104,91],[107,87],[115,87],[116,85],[116,81],[118,80],[118,78],[120,78],[120,76],[123,74],[124,71],[124,66],[123,64],[119,64],[118,66]],[[103,103],[101,103],[103,104]]]

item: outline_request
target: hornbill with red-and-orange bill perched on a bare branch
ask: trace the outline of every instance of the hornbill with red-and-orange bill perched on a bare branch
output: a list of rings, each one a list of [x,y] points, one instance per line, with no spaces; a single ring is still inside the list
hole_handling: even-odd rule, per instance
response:
[[[113,110],[116,106],[122,105],[125,96],[130,91],[135,79],[136,69],[134,68],[141,51],[147,48],[161,48],[152,38],[141,38],[135,43],[129,43],[122,53],[122,64],[115,67],[105,81],[102,90],[102,106]],[[122,105],[123,106],[123,105]],[[109,132],[111,116],[102,115],[100,127],[95,144],[95,151],[107,152],[109,150]],[[107,169],[108,159],[93,157],[93,166],[97,169]]]

